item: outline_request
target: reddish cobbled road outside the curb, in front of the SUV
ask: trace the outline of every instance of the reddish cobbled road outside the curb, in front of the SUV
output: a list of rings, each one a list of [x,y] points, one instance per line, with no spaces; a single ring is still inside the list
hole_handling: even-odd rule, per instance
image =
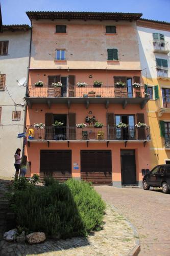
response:
[[[137,229],[139,255],[170,255],[170,195],[159,190],[95,186]]]

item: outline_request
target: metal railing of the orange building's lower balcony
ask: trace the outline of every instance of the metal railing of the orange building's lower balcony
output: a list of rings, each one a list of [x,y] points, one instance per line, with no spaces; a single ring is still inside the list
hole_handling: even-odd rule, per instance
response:
[[[29,129],[32,129],[29,136]],[[44,129],[35,129],[27,126],[28,139],[36,140],[150,140],[150,128],[103,126],[96,128],[87,126],[77,128],[76,126],[45,126]]]

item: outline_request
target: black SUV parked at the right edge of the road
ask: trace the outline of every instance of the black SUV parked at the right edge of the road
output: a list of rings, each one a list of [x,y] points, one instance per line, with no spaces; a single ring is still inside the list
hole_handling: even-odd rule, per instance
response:
[[[170,164],[161,164],[154,167],[151,171],[145,170],[143,177],[143,189],[148,190],[152,187],[162,187],[163,193],[170,191]]]

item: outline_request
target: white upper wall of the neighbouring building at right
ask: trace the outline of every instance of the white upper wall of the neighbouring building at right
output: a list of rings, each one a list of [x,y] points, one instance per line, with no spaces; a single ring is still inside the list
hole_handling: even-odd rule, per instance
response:
[[[168,60],[168,68],[170,68],[170,55],[154,53],[153,46],[153,33],[164,34],[165,41],[168,42],[168,49],[170,50],[170,32],[164,30],[157,30],[137,26],[138,44],[139,44],[139,57],[141,69],[147,69],[148,78],[157,78],[156,72],[156,58]],[[142,71],[142,76],[145,77],[145,70]]]

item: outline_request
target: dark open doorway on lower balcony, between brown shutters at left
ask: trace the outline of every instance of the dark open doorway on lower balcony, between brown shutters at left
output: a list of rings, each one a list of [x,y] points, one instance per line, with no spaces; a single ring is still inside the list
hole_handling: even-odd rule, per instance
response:
[[[54,139],[65,140],[67,138],[67,115],[54,115],[54,123],[56,121],[63,123],[63,125],[54,126]]]

